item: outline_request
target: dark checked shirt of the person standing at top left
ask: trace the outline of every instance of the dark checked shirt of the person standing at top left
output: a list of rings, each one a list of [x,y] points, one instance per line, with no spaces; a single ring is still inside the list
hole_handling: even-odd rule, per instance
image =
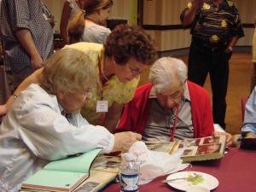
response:
[[[0,31],[4,56],[14,73],[30,67],[30,55],[15,37],[19,28],[32,33],[34,44],[43,61],[53,53],[53,30],[40,0],[2,0]]]

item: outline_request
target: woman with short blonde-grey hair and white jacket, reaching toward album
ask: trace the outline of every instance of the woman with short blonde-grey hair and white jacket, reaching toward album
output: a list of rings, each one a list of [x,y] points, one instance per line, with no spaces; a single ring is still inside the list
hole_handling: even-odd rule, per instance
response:
[[[0,126],[1,192],[19,191],[50,160],[94,148],[126,151],[141,139],[132,132],[113,135],[82,118],[79,111],[95,86],[95,67],[77,49],[61,49],[44,62],[38,84],[20,93]]]

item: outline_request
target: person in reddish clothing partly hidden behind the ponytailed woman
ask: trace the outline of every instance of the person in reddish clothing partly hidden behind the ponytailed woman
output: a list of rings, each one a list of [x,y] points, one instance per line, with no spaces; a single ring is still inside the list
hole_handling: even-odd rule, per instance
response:
[[[95,0],[94,0],[95,1]],[[84,13],[87,0],[66,0],[61,14],[60,33],[65,44],[68,44],[67,25],[80,11]]]

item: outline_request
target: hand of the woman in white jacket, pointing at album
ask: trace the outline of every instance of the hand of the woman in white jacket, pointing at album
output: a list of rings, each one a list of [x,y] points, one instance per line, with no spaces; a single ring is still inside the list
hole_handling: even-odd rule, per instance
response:
[[[122,151],[125,152],[131,145],[139,140],[142,139],[142,135],[127,131],[127,132],[119,132],[115,133],[114,135],[114,144],[112,152],[115,151]]]

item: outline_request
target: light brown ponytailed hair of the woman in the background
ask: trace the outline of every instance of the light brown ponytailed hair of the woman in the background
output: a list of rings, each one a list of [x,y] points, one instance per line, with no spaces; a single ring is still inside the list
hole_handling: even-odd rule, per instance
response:
[[[84,17],[91,14],[95,14],[98,10],[108,9],[113,6],[113,0],[87,0],[85,1],[83,11],[79,11],[77,15],[73,17],[73,20],[68,22],[67,32],[69,35],[69,44],[78,43],[84,32]]]

